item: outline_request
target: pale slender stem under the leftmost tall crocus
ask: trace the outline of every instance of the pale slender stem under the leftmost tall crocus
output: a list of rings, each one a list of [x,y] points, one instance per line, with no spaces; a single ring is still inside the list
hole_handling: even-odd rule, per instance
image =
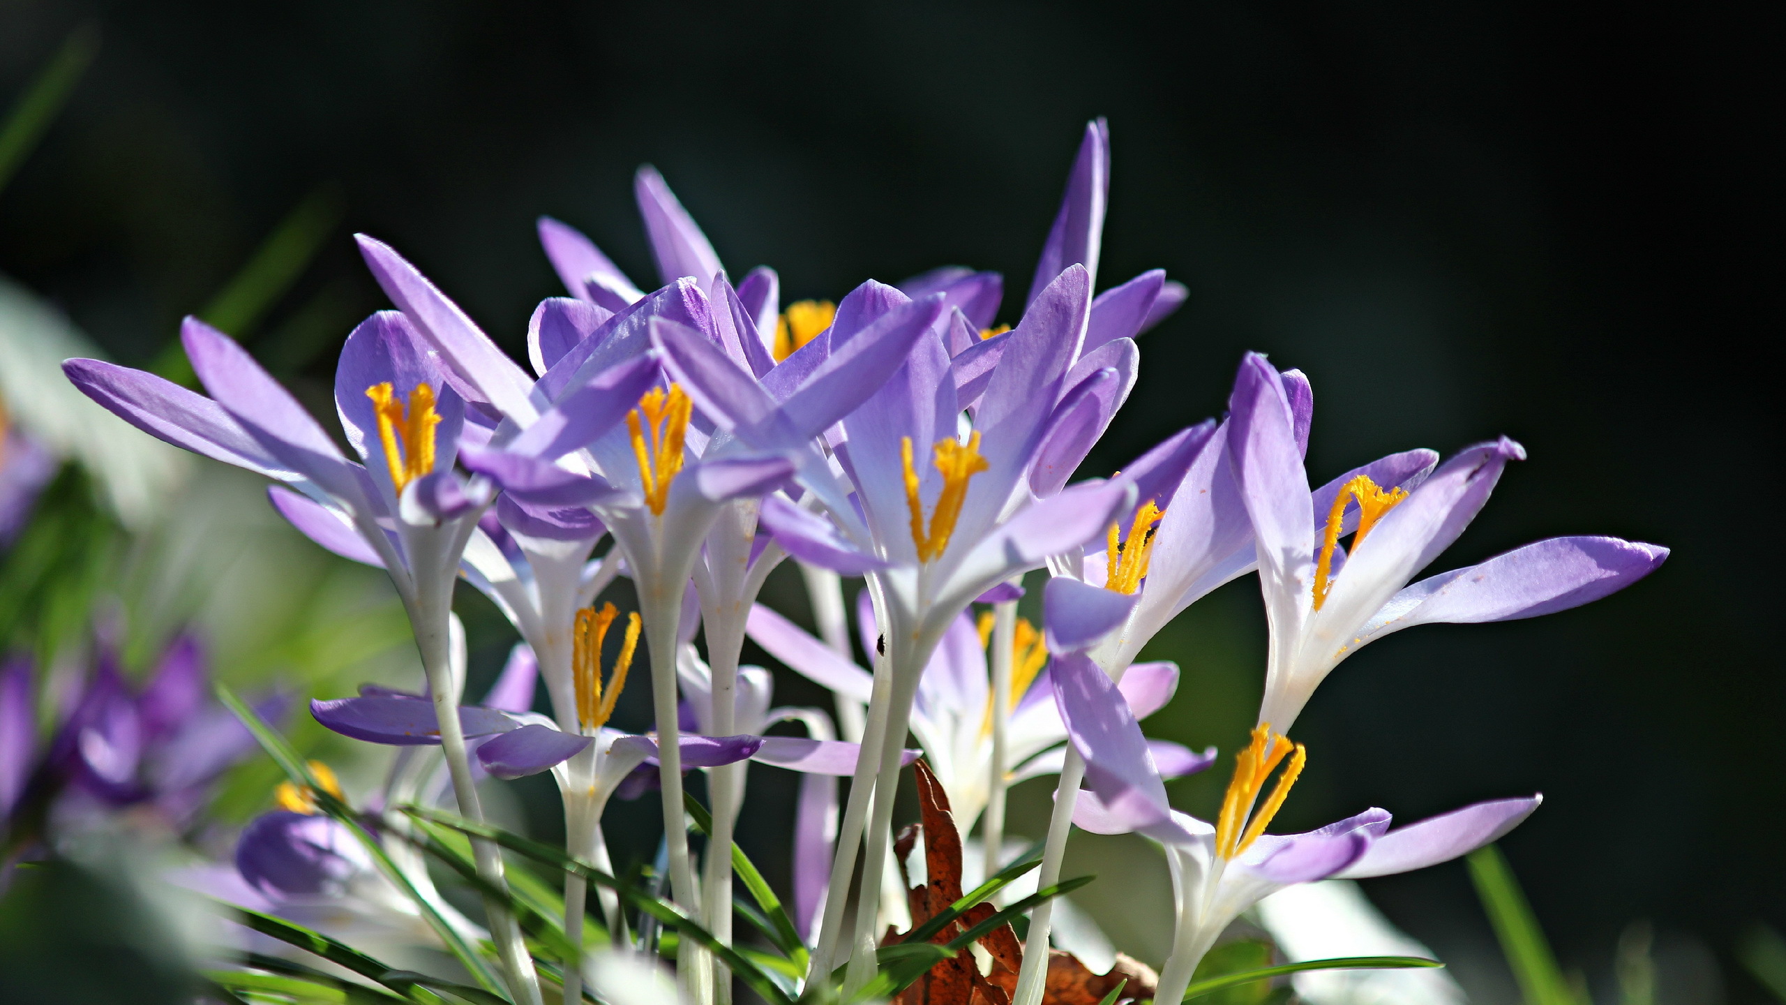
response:
[[[452,565],[457,565],[457,558]],[[427,672],[429,690],[434,696],[434,717],[439,726],[441,753],[446,756],[446,771],[452,776],[454,798],[466,819],[482,823],[484,808],[479,803],[472,764],[466,758],[464,728],[459,724],[459,690],[464,681],[455,681],[452,672],[448,619],[452,615],[454,576],[450,570],[452,567],[446,574],[416,576],[409,622],[416,633],[416,647],[421,651],[421,669]],[[497,846],[472,839],[472,855],[479,878],[505,898],[509,883],[502,874],[502,853]],[[507,971],[511,994],[520,1005],[539,1005],[539,980],[509,907],[498,896],[486,896],[484,914],[489,921],[491,941],[495,941],[497,953]]]

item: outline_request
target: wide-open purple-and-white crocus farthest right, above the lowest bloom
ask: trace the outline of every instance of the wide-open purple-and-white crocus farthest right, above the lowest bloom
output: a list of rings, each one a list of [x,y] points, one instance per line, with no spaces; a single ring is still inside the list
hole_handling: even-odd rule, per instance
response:
[[[1450,547],[1525,449],[1502,436],[1465,449],[1413,492],[1359,474],[1334,495],[1325,531],[1307,504],[1297,417],[1263,356],[1241,363],[1229,401],[1231,463],[1259,547],[1272,628],[1259,722],[1284,731],[1314,688],[1363,646],[1415,624],[1482,622],[1568,610],[1648,576],[1668,549],[1609,536],[1561,536],[1409,585]],[[1356,533],[1343,520],[1359,510]],[[1354,533],[1350,554],[1340,538]]]

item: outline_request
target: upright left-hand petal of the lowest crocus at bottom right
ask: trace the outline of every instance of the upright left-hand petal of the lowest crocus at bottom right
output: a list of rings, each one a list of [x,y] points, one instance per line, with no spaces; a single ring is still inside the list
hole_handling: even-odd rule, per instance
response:
[[[1057,656],[1050,672],[1054,705],[1068,739],[1086,758],[1086,781],[1104,810],[1129,830],[1170,821],[1166,787],[1116,685],[1082,655]]]

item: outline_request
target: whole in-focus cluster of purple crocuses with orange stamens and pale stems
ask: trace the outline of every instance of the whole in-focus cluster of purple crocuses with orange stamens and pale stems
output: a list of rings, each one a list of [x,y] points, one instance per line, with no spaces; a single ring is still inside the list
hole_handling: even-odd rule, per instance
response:
[[[1536,796],[1400,828],[1372,808],[1309,833],[1268,833],[1309,756],[1288,733],[1341,660],[1415,624],[1534,617],[1604,597],[1654,570],[1666,549],[1552,538],[1416,579],[1523,449],[1500,438],[1443,463],[1407,451],[1311,488],[1309,379],[1264,356],[1241,361],[1220,420],[1181,429],[1111,477],[1072,481],[1134,388],[1136,338],[1186,297],[1163,270],[1098,291],[1107,186],[1109,132],[1095,122],[1034,281],[1007,311],[1016,324],[995,327],[1004,290],[989,272],[866,281],[836,304],[782,306],[770,268],[734,284],[664,181],[643,168],[636,193],[659,286],[647,291],[588,238],[543,218],[545,254],[570,295],[534,311],[527,367],[391,247],[359,238],[396,309],[366,318],[341,352],[334,399],[350,452],[198,320],[182,340],[209,397],[70,359],[68,377],[118,417],[280,483],[270,497],[293,526],[389,572],[425,681],[314,701],[311,714],[336,733],[400,747],[393,783],[364,808],[384,821],[375,832],[413,833],[384,810],[427,805],[450,787],[470,821],[486,926],[439,901],[425,867],[404,858],[407,844],[386,837],[388,857],[368,857],[350,833],[359,824],[318,815],[320,805],[341,805],[318,769],[311,780],[325,790],[286,790],[280,810],[248,828],[241,876],[273,901],[352,896],[364,914],[391,891],[361,880],[395,862],[380,883],[407,882],[418,910],[445,917],[448,935],[488,935],[507,994],[539,1001],[543,971],[505,896],[505,864],[493,832],[479,830],[479,781],[550,771],[564,851],[604,873],[613,871],[602,832],[609,799],[655,787],[668,903],[689,925],[680,992],[698,1005],[729,1001],[727,967],[743,962],[727,955],[732,833],[748,765],[773,765],[804,774],[791,821],[802,946],[788,957],[788,991],[830,987],[841,966],[845,996],[884,994],[897,982],[870,985],[889,980],[877,957],[886,926],[932,919],[934,933],[954,917],[939,903],[909,908],[918,901],[895,874],[911,851],[900,839],[895,862],[897,780],[922,751],[932,862],[956,839],[945,840],[954,830],[931,814],[952,812],[961,832],[984,824],[984,873],[998,871],[1004,792],[1047,774],[1059,789],[1041,887],[1059,883],[1072,824],[1157,840],[1177,930],[1154,994],[1177,1001],[1222,930],[1263,896],[1443,862],[1516,826]],[[613,544],[598,556],[604,540]],[[816,637],[757,603],[788,558],[813,594]],[[1016,603],[1036,570],[1047,585],[1031,624]],[[1166,803],[1163,780],[1207,769],[1216,753],[1141,735],[1138,719],[1172,697],[1177,667],[1136,658],[1186,606],[1247,572],[1257,572],[1270,617],[1264,703],[1216,821],[1204,823]],[[638,612],[598,604],[618,576],[632,581]],[[523,638],[482,705],[463,701],[463,638],[450,613],[459,578]],[[872,667],[854,656],[843,578],[863,579],[857,629]],[[741,665],[747,637],[829,688],[834,712],[772,706],[770,674]],[[611,717],[639,676],[650,681],[654,728],[632,735]],[[532,712],[536,680],[548,714]],[[805,737],[766,735],[777,722],[800,724]],[[920,749],[907,749],[913,740]],[[427,758],[430,747],[439,758]],[[704,855],[688,839],[691,769],[707,773]],[[841,776],[852,783],[839,807]],[[952,867],[959,894],[961,860]],[[584,944],[586,880],[566,873],[561,932],[573,948]],[[602,923],[616,946],[632,946],[623,891],[607,891]],[[1007,928],[975,930],[1004,939],[989,951],[1014,984],[995,989],[966,975],[979,991],[963,991],[963,1003],[1070,1000],[1050,980],[1052,908],[1043,896],[1031,914],[1034,951],[1018,953]],[[970,910],[961,925],[989,916],[991,907]],[[688,937],[695,926],[711,939],[700,950]],[[954,932],[950,921],[936,941]],[[943,994],[936,975],[931,1000]],[[564,1000],[582,994],[579,959],[547,978]]]

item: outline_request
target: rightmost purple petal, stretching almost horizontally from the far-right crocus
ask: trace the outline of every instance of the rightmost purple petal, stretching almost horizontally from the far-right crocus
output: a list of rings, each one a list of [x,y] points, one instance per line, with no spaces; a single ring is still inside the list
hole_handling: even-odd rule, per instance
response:
[[[1541,540],[1402,588],[1359,635],[1373,640],[1415,624],[1554,613],[1623,590],[1666,558],[1666,547],[1620,538]]]

